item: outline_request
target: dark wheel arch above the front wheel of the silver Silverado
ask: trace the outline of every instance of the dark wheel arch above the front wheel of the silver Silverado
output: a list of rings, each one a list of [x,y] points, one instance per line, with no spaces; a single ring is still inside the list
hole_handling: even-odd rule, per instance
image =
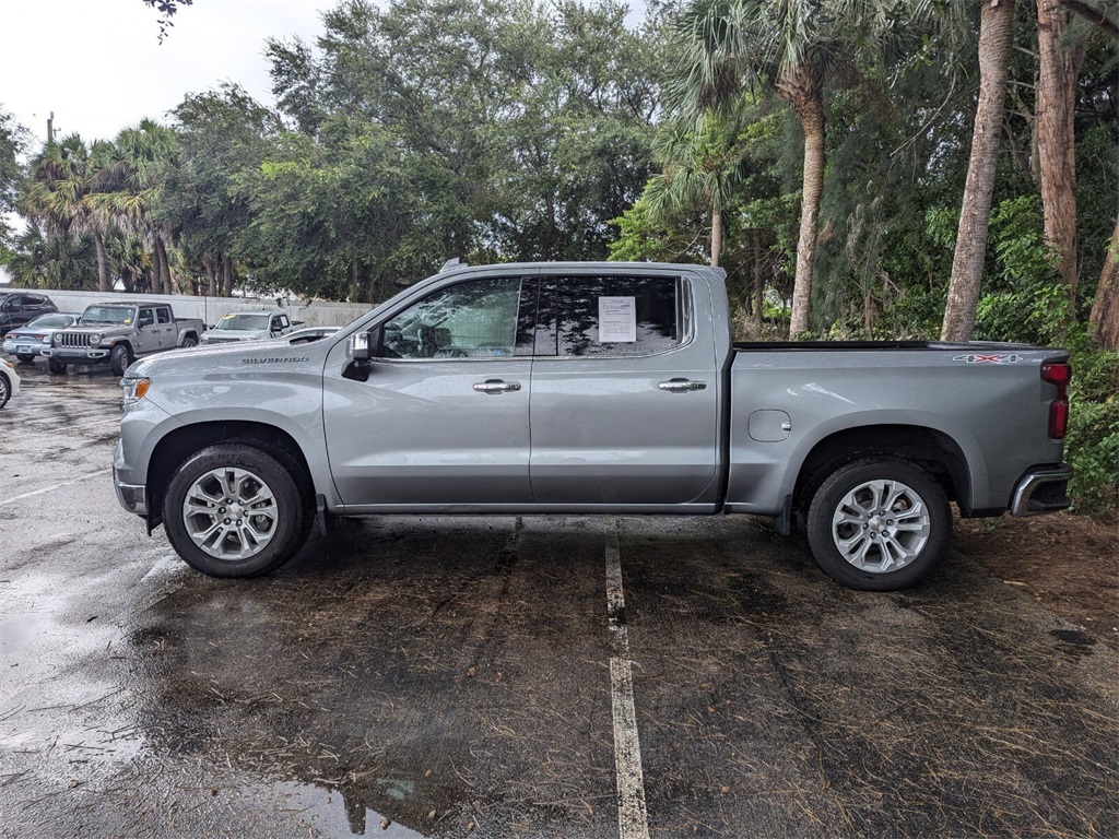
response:
[[[297,482],[313,499],[313,482],[307,458],[299,443],[283,428],[252,421],[205,422],[176,428],[159,441],[148,462],[148,520],[154,526],[163,517],[163,498],[178,468],[190,455],[216,443],[248,443],[265,451],[286,454],[301,474]]]

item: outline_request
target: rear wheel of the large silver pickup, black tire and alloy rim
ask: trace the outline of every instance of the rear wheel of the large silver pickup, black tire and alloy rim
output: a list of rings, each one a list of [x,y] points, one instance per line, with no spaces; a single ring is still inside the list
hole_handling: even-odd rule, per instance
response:
[[[812,556],[829,577],[849,588],[893,592],[937,567],[952,516],[928,472],[881,455],[839,466],[820,483],[807,529]]]

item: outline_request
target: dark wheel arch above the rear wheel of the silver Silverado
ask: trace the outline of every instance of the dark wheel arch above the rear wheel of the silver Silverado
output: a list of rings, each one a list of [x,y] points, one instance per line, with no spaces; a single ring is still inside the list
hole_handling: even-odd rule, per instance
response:
[[[836,469],[881,453],[920,465],[961,510],[971,508],[971,477],[963,450],[950,436],[920,425],[864,425],[820,440],[805,458],[793,490],[797,508],[806,510],[820,483]]]

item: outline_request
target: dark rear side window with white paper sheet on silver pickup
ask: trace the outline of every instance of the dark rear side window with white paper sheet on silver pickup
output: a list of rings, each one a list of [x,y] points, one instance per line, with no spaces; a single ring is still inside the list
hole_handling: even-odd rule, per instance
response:
[[[684,284],[678,277],[551,280],[540,305],[537,355],[647,356],[684,341]]]

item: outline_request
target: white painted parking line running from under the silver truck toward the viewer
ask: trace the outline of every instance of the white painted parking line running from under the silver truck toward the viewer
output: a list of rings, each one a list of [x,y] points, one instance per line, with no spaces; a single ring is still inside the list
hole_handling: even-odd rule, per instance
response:
[[[610,697],[614,713],[614,772],[618,776],[618,835],[621,839],[649,839],[645,805],[641,743],[633,708],[633,670],[629,660],[626,596],[617,530],[606,537],[606,614],[614,638],[610,659]]]

